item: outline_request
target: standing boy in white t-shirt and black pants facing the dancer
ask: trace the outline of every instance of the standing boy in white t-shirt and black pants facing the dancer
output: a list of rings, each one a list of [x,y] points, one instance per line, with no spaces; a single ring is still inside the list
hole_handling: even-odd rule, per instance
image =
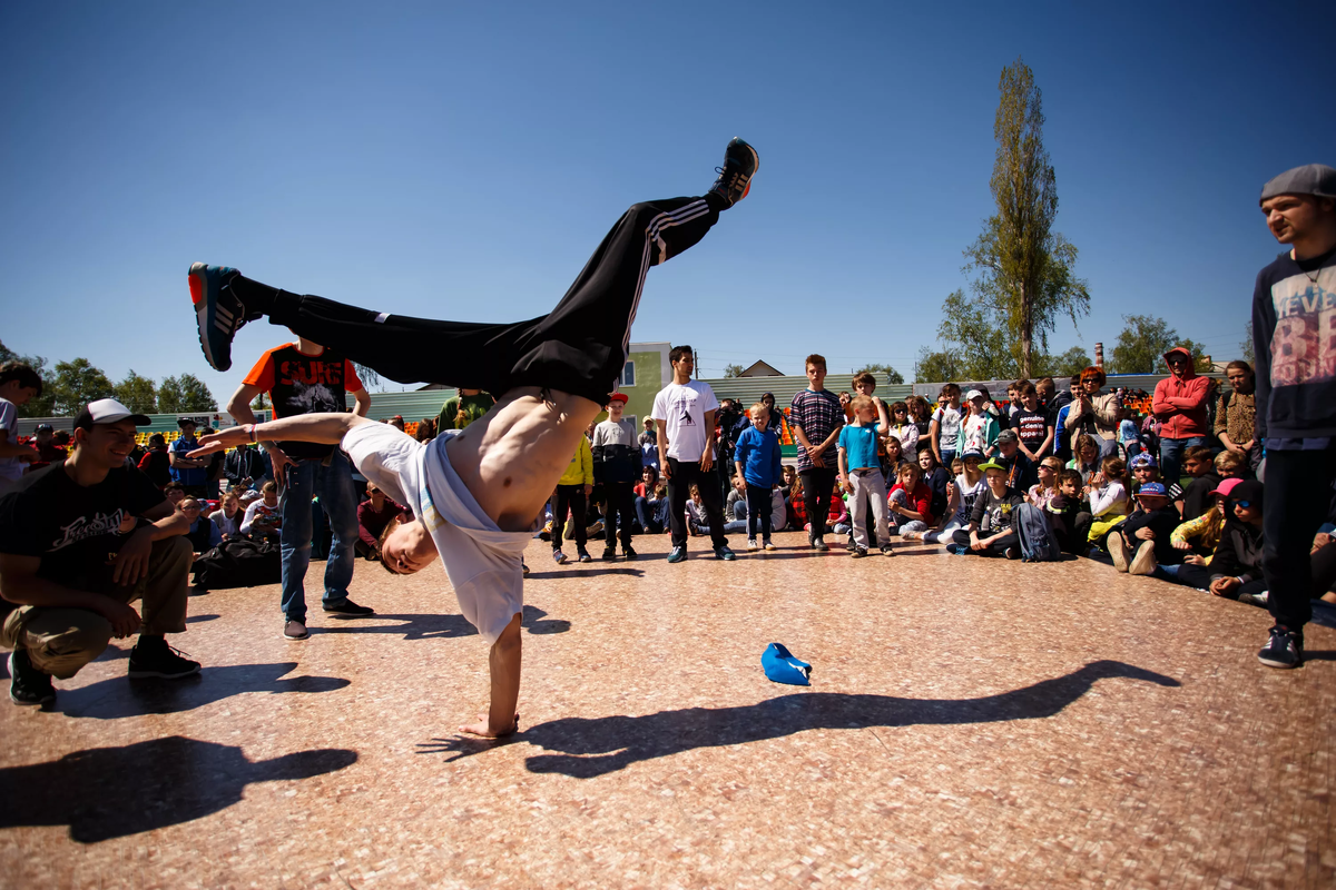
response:
[[[655,396],[652,415],[659,427],[659,463],[668,478],[668,519],[672,523],[672,550],[668,562],[687,558],[687,498],[691,487],[700,488],[700,500],[709,520],[715,556],[732,560],[733,551],[724,538],[724,504],[715,471],[715,412],[719,400],[708,383],[692,380],[695,352],[675,346],[668,354],[672,383]]]

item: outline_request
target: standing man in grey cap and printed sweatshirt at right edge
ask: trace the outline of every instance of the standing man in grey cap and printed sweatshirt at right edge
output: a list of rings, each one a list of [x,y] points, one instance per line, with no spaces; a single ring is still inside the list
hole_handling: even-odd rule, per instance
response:
[[[1304,658],[1313,535],[1336,482],[1336,169],[1307,164],[1261,189],[1271,234],[1289,250],[1257,274],[1257,436],[1265,447],[1263,570],[1275,626],[1269,667]]]

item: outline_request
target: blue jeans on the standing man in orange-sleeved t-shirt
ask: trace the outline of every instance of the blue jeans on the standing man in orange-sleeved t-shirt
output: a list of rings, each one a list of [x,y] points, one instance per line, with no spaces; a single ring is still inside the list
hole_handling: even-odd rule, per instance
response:
[[[283,615],[287,620],[306,623],[306,567],[311,562],[314,515],[311,498],[319,496],[326,520],[334,534],[330,555],[325,562],[326,606],[342,606],[353,580],[353,543],[357,532],[357,491],[353,488],[353,466],[342,451],[335,451],[326,467],[318,459],[298,460],[287,467],[287,484],[279,499],[283,531],[279,552],[283,560]]]

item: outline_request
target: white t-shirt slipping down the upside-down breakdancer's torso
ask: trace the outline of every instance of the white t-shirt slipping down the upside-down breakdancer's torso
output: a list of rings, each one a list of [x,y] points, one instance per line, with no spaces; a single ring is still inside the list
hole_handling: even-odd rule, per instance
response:
[[[358,472],[426,526],[450,578],[460,611],[488,643],[524,612],[520,558],[532,531],[501,531],[450,467],[444,430],[422,443],[387,423],[362,423],[343,436]]]

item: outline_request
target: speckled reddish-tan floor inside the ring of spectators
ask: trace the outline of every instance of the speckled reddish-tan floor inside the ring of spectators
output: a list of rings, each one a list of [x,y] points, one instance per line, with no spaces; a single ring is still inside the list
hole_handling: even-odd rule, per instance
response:
[[[453,733],[486,651],[438,568],[359,563],[381,614],[305,643],[275,587],[194,598],[198,679],[112,648],[0,707],[0,885],[1336,883],[1336,631],[1272,671],[1264,612],[1088,560],[776,539],[560,570],[534,542],[504,745]],[[764,678],[772,640],[810,689]]]

